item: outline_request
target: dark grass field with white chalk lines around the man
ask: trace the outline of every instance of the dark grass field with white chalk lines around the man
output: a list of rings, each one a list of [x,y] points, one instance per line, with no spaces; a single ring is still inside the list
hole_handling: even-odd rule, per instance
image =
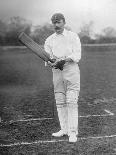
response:
[[[116,155],[116,46],[83,46],[79,136],[59,130],[52,72],[23,48],[0,48],[0,155]]]

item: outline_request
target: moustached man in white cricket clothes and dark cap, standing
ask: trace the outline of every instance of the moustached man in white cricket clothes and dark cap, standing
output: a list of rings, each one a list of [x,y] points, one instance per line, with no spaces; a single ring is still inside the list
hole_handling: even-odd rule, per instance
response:
[[[80,91],[81,43],[78,35],[67,31],[65,17],[56,13],[51,18],[55,33],[45,41],[45,51],[55,58],[48,63],[53,71],[54,94],[61,130],[52,136],[69,136],[69,142],[76,142],[78,135],[78,96]]]

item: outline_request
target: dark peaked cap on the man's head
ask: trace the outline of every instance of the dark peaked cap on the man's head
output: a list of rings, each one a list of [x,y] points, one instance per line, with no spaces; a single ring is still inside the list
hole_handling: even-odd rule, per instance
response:
[[[60,21],[61,19],[62,19],[62,20],[64,21],[64,23],[65,23],[65,17],[64,17],[64,15],[63,15],[62,13],[55,13],[55,14],[52,16],[51,21],[52,21],[52,23],[55,23],[55,22]]]

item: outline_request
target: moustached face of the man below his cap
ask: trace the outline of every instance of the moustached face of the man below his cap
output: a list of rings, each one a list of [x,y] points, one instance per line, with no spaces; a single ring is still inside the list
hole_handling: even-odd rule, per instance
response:
[[[55,21],[52,23],[57,34],[61,34],[64,30],[65,22],[63,19]]]

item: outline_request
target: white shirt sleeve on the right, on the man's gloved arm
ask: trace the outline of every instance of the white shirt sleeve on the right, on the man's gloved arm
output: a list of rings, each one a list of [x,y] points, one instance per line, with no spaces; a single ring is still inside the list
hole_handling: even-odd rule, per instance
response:
[[[74,62],[78,63],[81,59],[81,42],[78,37],[78,35],[75,33],[72,36],[72,53],[68,56],[68,58],[71,58]]]

